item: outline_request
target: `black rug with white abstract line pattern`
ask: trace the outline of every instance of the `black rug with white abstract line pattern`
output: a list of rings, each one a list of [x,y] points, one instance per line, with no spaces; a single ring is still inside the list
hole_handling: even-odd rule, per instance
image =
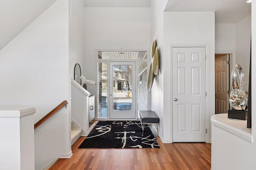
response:
[[[140,121],[99,121],[78,148],[160,148],[148,125]]]

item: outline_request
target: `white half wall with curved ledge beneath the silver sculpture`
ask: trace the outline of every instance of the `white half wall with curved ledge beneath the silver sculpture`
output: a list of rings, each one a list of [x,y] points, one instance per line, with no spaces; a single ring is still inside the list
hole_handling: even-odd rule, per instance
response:
[[[213,115],[211,123],[211,170],[255,170],[256,145],[247,121],[229,119],[224,113]]]

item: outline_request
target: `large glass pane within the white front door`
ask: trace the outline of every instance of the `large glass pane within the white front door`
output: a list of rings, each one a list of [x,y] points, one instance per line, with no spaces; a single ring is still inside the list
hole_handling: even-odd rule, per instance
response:
[[[113,65],[113,111],[132,111],[132,65]]]

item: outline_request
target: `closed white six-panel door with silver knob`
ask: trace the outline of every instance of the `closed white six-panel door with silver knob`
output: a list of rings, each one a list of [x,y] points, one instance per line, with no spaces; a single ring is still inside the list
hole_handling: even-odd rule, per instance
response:
[[[172,48],[173,142],[206,142],[205,47]]]

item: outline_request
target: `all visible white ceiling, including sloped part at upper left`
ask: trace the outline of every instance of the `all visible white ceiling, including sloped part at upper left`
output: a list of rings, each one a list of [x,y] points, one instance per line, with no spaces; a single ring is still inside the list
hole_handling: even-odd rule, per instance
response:
[[[246,0],[156,0],[167,2],[164,11],[215,11],[216,23],[237,23],[251,14]],[[2,0],[0,50],[56,0]],[[150,8],[151,0],[84,0],[86,7]]]

